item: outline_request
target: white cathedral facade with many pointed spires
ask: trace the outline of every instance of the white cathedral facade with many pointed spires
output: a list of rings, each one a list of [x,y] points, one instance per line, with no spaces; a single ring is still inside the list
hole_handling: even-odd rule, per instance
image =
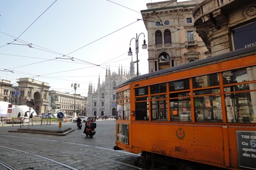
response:
[[[89,85],[87,116],[115,116],[116,115],[116,87],[136,76],[134,63],[130,64],[130,72],[123,71],[122,67],[117,72],[106,69],[105,81],[100,84],[98,79],[97,89],[92,84]]]

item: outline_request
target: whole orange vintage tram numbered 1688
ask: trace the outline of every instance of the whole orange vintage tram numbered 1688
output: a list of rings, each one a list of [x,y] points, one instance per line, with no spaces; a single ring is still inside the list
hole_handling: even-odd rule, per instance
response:
[[[145,168],[256,169],[256,45],[117,87],[116,146]]]

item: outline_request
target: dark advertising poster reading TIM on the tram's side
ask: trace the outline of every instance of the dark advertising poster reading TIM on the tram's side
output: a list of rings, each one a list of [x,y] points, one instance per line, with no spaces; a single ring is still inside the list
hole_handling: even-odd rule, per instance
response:
[[[237,131],[240,167],[256,169],[256,131]]]

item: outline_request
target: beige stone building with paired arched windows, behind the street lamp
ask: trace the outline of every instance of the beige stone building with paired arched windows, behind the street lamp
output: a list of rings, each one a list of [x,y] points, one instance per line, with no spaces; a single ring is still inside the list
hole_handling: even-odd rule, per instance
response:
[[[141,10],[148,34],[148,72],[211,56],[194,27],[192,12],[200,2],[148,3]]]

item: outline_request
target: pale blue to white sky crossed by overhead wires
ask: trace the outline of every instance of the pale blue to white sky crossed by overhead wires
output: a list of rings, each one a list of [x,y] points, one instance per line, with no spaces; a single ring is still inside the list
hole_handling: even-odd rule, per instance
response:
[[[0,6],[0,80],[49,83],[50,90],[87,96],[106,68],[130,70],[127,55],[136,33],[145,34],[140,10],[154,0],[6,0]],[[179,2],[179,1],[178,1]],[[148,73],[147,50],[139,37],[139,72]],[[136,61],[135,40],[131,41]],[[135,64],[135,71],[136,71]]]

